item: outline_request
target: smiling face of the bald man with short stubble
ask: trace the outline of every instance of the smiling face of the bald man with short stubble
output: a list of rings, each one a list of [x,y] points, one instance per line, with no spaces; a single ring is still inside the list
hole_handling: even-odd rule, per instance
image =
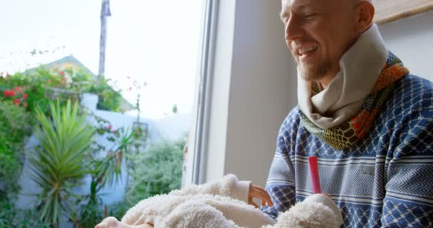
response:
[[[358,37],[354,0],[282,0],[286,43],[308,81],[334,77]],[[331,79],[332,79],[331,78]]]

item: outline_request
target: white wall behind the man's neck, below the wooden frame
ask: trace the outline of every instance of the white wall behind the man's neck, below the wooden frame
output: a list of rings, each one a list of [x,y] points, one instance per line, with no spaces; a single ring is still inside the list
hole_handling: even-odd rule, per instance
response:
[[[379,26],[392,53],[409,71],[433,81],[433,11]]]

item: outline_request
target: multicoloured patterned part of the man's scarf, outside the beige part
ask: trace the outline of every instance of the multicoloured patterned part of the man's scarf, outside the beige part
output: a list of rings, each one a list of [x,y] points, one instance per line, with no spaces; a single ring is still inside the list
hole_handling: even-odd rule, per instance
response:
[[[360,113],[355,118],[327,130],[323,130],[318,125],[315,125],[302,112],[301,121],[310,133],[320,138],[320,140],[327,142],[331,147],[340,150],[349,148],[368,133],[379,114],[380,108],[382,108],[388,96],[394,90],[394,83],[407,75],[407,73],[409,73],[409,70],[403,66],[402,61],[391,52],[388,52],[385,66],[377,78],[372,92],[365,98]],[[311,89],[313,95],[318,94],[320,92],[318,82],[312,83]]]

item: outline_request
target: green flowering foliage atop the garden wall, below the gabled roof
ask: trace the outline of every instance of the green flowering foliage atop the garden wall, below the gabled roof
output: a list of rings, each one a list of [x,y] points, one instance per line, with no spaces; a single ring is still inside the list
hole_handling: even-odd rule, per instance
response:
[[[66,103],[66,100],[77,101],[80,93],[97,94],[99,98],[98,109],[100,110],[122,111],[123,100],[120,90],[110,86],[108,79],[101,78],[96,81],[94,76],[85,73],[83,69],[73,71],[71,68],[67,68],[60,71],[55,66],[51,68],[41,66],[23,73],[15,73],[6,77],[0,76],[1,93],[13,91],[14,88],[25,90],[27,99],[19,96],[14,100],[19,99],[21,105],[26,105],[27,110],[33,114],[35,114],[36,107],[48,114],[51,100],[59,99],[62,104]]]

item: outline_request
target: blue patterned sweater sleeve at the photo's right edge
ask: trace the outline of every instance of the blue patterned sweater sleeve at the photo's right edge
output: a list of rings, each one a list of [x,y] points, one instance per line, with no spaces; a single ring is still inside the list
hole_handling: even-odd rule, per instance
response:
[[[432,94],[397,120],[385,163],[382,227],[433,226]],[[388,162],[389,160],[389,162]]]

